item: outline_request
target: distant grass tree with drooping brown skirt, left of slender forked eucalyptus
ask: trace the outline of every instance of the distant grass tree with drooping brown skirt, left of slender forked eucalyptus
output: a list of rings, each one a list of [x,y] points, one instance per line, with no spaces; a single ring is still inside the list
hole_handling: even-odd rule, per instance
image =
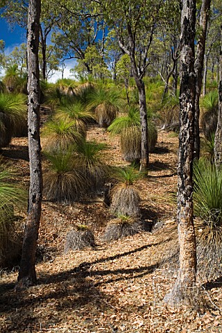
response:
[[[107,128],[123,107],[123,101],[116,89],[98,87],[89,94],[87,107],[89,110],[94,110],[97,123]]]

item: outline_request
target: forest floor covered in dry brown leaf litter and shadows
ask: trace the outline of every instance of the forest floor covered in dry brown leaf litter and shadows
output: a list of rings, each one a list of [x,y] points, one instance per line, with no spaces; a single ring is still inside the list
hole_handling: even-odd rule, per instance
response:
[[[117,137],[93,126],[88,139],[107,145],[109,164],[124,164]],[[43,200],[38,284],[16,292],[16,268],[1,271],[1,333],[222,332],[222,280],[200,281],[196,296],[187,291],[187,303],[180,307],[163,301],[177,273],[177,152],[178,137],[160,131],[148,175],[139,180],[142,219],[161,226],[153,232],[105,243],[112,216],[102,194],[74,205]],[[3,156],[17,170],[15,180],[28,187],[27,139],[13,139]],[[78,223],[92,228],[96,247],[65,254],[66,234]]]

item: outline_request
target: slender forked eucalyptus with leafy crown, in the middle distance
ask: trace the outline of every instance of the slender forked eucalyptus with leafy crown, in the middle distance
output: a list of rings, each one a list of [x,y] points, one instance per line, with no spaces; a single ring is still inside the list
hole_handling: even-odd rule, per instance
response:
[[[148,50],[164,7],[163,0],[92,1],[94,12],[103,12],[108,26],[115,29],[119,46],[128,54],[139,92],[142,131],[141,169],[148,168],[148,126],[143,78],[150,63]],[[151,10],[152,8],[152,10]]]

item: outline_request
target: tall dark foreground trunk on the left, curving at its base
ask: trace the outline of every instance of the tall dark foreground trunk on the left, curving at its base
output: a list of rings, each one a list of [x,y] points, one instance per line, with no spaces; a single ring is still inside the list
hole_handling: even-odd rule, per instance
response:
[[[40,227],[42,203],[42,166],[40,156],[40,71],[38,62],[41,0],[30,0],[28,7],[28,151],[30,188],[24,232],[22,259],[17,289],[36,284],[35,250]]]

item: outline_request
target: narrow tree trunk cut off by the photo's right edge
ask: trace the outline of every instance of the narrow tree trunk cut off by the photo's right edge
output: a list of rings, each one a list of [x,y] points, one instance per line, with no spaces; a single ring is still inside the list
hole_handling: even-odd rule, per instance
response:
[[[216,133],[214,138],[214,162],[216,167],[222,165],[222,25],[221,25],[221,48],[219,62],[219,110]]]

